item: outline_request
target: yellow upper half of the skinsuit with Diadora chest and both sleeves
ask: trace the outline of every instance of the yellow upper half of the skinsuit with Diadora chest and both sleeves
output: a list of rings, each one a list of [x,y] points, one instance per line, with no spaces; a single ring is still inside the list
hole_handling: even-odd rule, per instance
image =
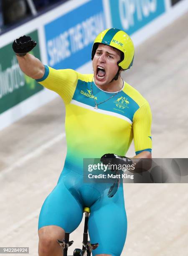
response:
[[[134,138],[136,154],[150,151],[151,111],[140,93],[124,82],[117,95],[100,90],[92,82],[97,103],[91,94],[93,74],[79,74],[72,69],[56,70],[45,66],[45,76],[38,79],[44,87],[57,92],[66,106],[66,164],[81,168],[83,158],[101,158],[107,153],[125,156]]]

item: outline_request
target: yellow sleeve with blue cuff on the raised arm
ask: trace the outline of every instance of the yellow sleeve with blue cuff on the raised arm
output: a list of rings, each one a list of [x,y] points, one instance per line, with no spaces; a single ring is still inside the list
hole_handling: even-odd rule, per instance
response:
[[[65,104],[69,104],[76,89],[78,73],[73,69],[53,69],[46,65],[44,67],[44,76],[36,81],[44,87],[57,92]]]

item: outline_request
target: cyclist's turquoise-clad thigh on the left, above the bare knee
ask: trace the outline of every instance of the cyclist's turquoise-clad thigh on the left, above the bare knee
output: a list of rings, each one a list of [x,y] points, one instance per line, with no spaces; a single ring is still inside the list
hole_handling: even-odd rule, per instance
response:
[[[56,225],[63,228],[65,232],[71,233],[79,226],[82,217],[83,206],[62,180],[43,203],[38,229],[43,226]]]

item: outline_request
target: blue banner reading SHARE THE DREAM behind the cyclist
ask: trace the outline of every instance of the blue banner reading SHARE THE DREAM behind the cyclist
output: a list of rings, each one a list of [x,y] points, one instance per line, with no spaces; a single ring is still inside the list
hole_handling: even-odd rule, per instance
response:
[[[91,0],[46,24],[48,65],[76,69],[85,64],[95,37],[105,28],[102,0]]]

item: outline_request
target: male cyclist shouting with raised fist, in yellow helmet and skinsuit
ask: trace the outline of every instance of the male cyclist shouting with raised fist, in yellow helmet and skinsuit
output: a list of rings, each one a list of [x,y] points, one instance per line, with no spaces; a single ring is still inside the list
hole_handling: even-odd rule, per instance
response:
[[[151,158],[150,106],[121,78],[122,70],[132,66],[133,43],[116,28],[100,33],[91,53],[94,74],[44,66],[28,54],[35,45],[23,36],[13,49],[22,71],[64,100],[67,141],[64,170],[39,217],[39,256],[62,255],[56,240],[78,227],[84,207],[91,209],[90,241],[99,243],[92,255],[119,256],[127,234],[122,183],[113,197],[108,197],[109,184],[84,183],[83,159],[105,158],[108,153],[124,156],[133,138],[134,157]]]

